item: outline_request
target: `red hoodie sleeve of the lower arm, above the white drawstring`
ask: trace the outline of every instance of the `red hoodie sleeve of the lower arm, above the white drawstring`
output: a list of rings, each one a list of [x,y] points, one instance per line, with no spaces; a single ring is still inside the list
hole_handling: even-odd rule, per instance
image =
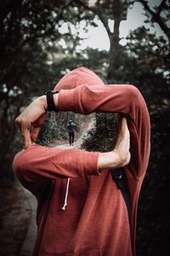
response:
[[[34,145],[16,154],[13,169],[26,189],[41,189],[49,179],[99,175],[99,153],[78,148],[60,149]]]

